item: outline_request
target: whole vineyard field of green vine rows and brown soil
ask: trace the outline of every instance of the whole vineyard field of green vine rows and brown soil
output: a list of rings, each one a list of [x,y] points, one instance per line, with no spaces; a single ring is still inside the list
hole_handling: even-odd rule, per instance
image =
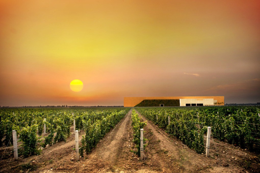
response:
[[[258,172],[260,168],[259,107],[0,111],[0,172]],[[132,111],[146,123],[143,161],[133,142]],[[79,130],[79,161],[75,161],[73,119]],[[207,126],[212,129],[209,157],[205,157]],[[14,129],[20,139],[18,160],[12,146]]]

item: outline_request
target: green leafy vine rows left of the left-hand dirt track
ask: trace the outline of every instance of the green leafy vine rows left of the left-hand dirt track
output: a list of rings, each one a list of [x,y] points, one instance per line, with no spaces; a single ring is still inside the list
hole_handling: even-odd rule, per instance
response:
[[[28,157],[40,154],[46,146],[66,141],[71,135],[70,127],[75,120],[76,130],[85,130],[82,138],[81,156],[90,152],[96,143],[114,127],[129,109],[1,109],[0,147],[10,146],[12,130],[16,130],[18,142],[22,142],[19,155]],[[45,133],[48,136],[43,137]],[[54,137],[55,134],[55,137]],[[3,141],[3,142],[2,142]],[[2,155],[2,158],[5,155]]]

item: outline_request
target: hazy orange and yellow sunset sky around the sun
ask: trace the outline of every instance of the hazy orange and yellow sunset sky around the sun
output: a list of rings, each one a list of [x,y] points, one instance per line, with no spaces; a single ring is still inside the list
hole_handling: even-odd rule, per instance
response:
[[[0,106],[256,103],[259,66],[259,0],[0,0]]]

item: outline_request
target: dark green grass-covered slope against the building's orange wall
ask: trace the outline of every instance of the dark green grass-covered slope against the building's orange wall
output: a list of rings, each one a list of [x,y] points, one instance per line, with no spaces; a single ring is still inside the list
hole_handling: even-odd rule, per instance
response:
[[[164,104],[164,106],[180,106],[180,100],[173,99],[162,99],[162,100],[143,100],[134,107],[153,107],[160,106],[160,104]]]

